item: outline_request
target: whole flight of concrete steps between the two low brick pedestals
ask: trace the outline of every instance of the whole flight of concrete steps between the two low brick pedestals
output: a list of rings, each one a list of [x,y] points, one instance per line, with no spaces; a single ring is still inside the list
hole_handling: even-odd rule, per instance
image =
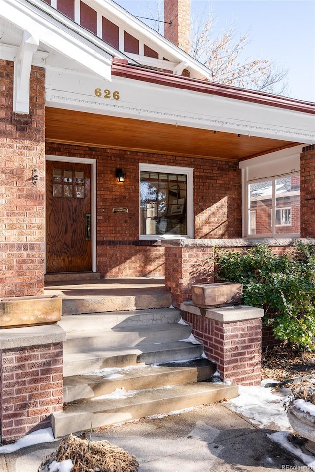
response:
[[[235,397],[236,385],[207,382],[216,364],[180,320],[174,308],[64,315],[55,437]]]

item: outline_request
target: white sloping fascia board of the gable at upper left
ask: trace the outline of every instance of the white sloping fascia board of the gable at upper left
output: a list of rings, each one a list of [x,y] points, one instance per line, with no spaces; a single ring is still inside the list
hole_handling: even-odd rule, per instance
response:
[[[91,43],[69,31],[66,26],[44,14],[39,15],[32,5],[20,0],[0,0],[0,9],[4,18],[22,30],[27,25],[30,34],[38,41],[111,81],[112,56],[95,50]]]

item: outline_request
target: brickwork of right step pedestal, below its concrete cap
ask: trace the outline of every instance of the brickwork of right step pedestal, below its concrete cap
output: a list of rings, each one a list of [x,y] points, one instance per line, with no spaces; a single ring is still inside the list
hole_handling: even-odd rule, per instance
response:
[[[216,362],[224,380],[240,385],[261,382],[261,318],[223,323],[182,311],[205,354]]]

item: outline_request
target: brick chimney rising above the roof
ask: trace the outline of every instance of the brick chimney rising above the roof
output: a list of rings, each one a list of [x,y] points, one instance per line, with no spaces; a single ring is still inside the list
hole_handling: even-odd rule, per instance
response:
[[[164,0],[164,36],[190,54],[190,0]]]

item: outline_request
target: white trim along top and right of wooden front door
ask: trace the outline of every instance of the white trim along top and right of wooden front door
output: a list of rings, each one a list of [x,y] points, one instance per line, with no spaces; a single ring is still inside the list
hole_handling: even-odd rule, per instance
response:
[[[91,165],[91,220],[92,220],[92,238],[91,238],[91,257],[92,272],[97,272],[96,260],[96,159],[86,157],[66,157],[46,155],[46,161],[73,162]],[[45,253],[46,256],[46,253]]]

